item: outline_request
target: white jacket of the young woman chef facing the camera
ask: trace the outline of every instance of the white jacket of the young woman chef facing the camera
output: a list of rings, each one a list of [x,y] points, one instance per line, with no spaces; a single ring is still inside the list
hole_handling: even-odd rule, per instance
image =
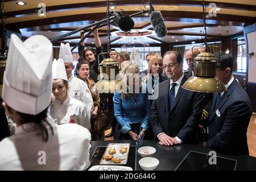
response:
[[[76,123],[90,130],[90,111],[88,107],[75,98],[68,98],[60,104],[54,100],[50,106],[50,115],[58,125]]]

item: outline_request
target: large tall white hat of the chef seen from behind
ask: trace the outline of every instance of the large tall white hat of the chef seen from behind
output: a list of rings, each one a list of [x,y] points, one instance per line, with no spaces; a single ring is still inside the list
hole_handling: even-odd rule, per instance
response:
[[[3,101],[20,113],[36,115],[49,106],[52,92],[52,43],[42,35],[22,42],[11,35]]]

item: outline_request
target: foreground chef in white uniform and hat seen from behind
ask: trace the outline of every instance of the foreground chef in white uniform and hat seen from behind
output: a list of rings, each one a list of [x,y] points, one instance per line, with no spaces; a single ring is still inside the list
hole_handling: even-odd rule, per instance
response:
[[[52,43],[42,35],[24,43],[11,35],[2,105],[16,122],[0,142],[0,170],[83,170],[90,165],[85,127],[47,118],[52,91]]]

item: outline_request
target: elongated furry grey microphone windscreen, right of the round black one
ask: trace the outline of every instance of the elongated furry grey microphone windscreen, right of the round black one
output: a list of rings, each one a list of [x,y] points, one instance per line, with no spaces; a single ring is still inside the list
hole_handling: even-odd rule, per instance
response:
[[[164,24],[164,19],[160,11],[152,11],[150,15],[150,22],[154,28],[156,36],[163,38],[167,35],[167,28]]]

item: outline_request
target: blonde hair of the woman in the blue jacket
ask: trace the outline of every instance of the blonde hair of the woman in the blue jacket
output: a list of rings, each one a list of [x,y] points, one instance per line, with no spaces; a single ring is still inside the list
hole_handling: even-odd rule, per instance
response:
[[[128,80],[130,75],[133,75],[134,73],[138,73],[139,74],[139,66],[135,63],[131,63],[129,61],[129,63],[126,63],[122,69],[121,72],[121,78],[122,80]],[[141,87],[141,82],[139,82],[139,87]],[[121,96],[123,98],[127,98],[130,96],[129,93],[122,93]]]

